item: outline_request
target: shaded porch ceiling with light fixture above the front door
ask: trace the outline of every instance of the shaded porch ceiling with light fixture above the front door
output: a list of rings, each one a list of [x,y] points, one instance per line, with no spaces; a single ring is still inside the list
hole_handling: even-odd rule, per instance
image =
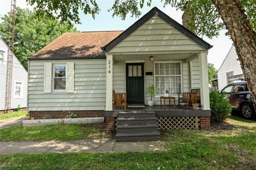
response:
[[[150,56],[153,56],[154,61],[180,61],[188,59],[195,53],[187,54],[129,54],[129,55],[114,55],[115,61],[147,61]]]

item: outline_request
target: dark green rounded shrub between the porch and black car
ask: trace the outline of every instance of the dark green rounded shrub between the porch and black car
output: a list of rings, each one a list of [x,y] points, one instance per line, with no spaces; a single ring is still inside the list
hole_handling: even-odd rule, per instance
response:
[[[210,92],[210,107],[212,123],[223,122],[223,120],[230,116],[232,111],[231,105],[225,97],[225,93],[218,93],[216,91]]]

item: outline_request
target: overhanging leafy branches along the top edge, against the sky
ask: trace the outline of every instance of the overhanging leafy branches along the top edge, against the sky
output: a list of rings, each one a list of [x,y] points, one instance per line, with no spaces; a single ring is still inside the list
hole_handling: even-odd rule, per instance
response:
[[[79,10],[83,10],[85,15],[92,15],[95,18],[100,11],[97,0],[81,1],[49,1],[49,0],[27,0],[29,4],[36,8],[36,15],[51,16],[60,19],[62,22],[80,23]],[[248,20],[253,29],[256,30],[256,0],[239,0],[248,15]],[[186,8],[188,16],[188,29],[195,31],[198,36],[208,36],[212,38],[218,36],[224,28],[220,15],[211,0],[161,0],[163,6],[170,5],[177,10],[184,11]],[[144,5],[150,6],[152,0],[115,0],[109,12],[113,12],[113,17],[118,16],[123,20],[130,13],[131,17],[140,17],[141,8]]]

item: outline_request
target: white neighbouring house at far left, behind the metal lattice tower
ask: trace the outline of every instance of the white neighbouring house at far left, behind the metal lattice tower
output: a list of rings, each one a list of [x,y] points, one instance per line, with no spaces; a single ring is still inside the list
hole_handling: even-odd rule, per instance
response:
[[[8,45],[0,38],[0,111],[4,111]],[[11,109],[27,107],[28,72],[13,55]]]

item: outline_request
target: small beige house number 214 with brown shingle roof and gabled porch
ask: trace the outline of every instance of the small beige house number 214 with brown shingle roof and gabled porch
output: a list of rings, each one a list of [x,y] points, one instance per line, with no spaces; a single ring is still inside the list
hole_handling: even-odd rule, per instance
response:
[[[29,58],[30,117],[60,118],[76,112],[105,116],[111,128],[119,114],[113,109],[113,90],[127,93],[128,105],[147,105],[148,86],[154,84],[156,107],[150,111],[157,118],[171,122],[179,117],[207,128],[211,47],[156,7],[125,31],[65,33]],[[166,89],[177,97],[179,91],[195,88],[200,88],[200,110],[157,107]]]

